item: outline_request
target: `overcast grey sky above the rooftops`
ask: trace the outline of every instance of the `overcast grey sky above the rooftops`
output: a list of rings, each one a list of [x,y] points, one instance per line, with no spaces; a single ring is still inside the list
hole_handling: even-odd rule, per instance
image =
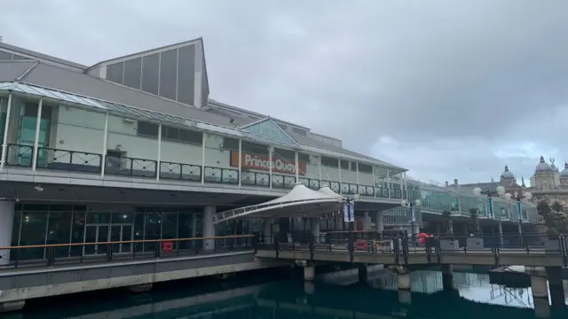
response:
[[[43,0],[4,42],[83,64],[202,36],[211,97],[420,179],[528,179],[568,149],[568,1]]]

